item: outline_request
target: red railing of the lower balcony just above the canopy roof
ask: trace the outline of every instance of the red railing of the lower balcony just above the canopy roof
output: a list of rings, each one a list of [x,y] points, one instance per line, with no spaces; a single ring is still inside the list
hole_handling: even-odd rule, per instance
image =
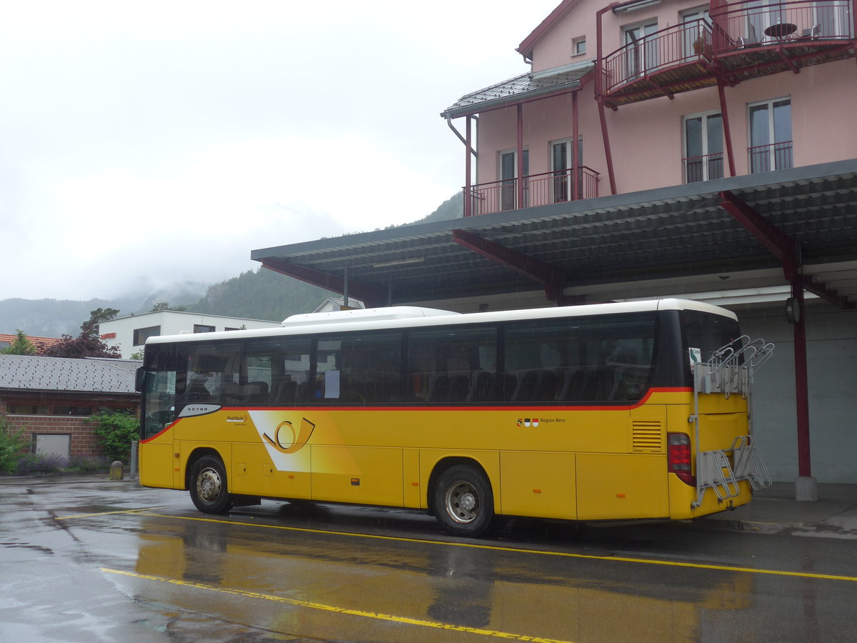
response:
[[[524,207],[546,206],[551,203],[591,199],[598,195],[598,172],[581,165],[578,168],[577,195],[574,191],[572,169],[530,174],[524,177]],[[514,178],[479,183],[470,188],[470,207],[465,216],[490,214],[518,207],[518,180]]]

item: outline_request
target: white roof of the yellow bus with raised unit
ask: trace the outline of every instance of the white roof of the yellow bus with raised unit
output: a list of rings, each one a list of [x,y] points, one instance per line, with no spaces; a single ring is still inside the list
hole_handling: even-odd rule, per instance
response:
[[[168,342],[242,340],[246,338],[280,337],[288,335],[322,332],[343,333],[348,331],[394,328],[425,328],[484,322],[517,322],[528,319],[555,319],[584,315],[617,315],[620,313],[645,312],[650,310],[698,310],[713,315],[722,315],[737,320],[731,310],[710,303],[690,299],[650,299],[619,303],[587,303],[579,306],[557,306],[521,310],[497,310],[491,312],[461,314],[449,310],[418,308],[416,306],[391,306],[389,308],[337,310],[326,313],[307,313],[287,317],[280,328],[252,328],[249,330],[220,331],[218,333],[156,335],[146,340],[148,344]]]

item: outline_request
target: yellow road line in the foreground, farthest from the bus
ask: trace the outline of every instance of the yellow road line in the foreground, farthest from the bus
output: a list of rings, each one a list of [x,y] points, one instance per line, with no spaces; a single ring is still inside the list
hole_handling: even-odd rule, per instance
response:
[[[236,523],[240,524],[240,523]],[[409,618],[407,616],[393,616],[392,614],[381,614],[379,612],[368,612],[363,610],[351,610],[345,607],[337,607],[335,605],[326,605],[323,603],[313,603],[310,601],[302,601],[297,598],[285,598],[282,596],[273,596],[272,594],[261,594],[259,592],[248,592],[246,590],[235,589],[234,587],[217,587],[207,585],[205,583],[197,583],[188,580],[177,580],[164,578],[163,576],[153,576],[151,574],[136,574],[135,572],[123,572],[119,569],[100,568],[102,572],[107,574],[119,574],[121,576],[130,576],[143,580],[156,580],[161,583],[171,583],[171,585],[180,585],[183,587],[192,587],[194,589],[207,590],[209,592],[224,592],[234,594],[246,598],[261,598],[263,600],[274,601],[275,603],[285,603],[296,607],[304,607],[309,610],[322,610],[327,612],[335,612],[338,614],[347,614],[349,616],[362,616],[363,618],[374,618],[379,621],[389,621],[402,623],[404,625],[418,625],[423,628],[445,629],[452,632],[466,632],[467,634],[482,634],[482,636],[491,636],[495,639],[506,640],[526,640],[532,643],[571,643],[570,641],[562,641],[557,639],[542,639],[538,636],[526,636],[524,634],[511,634],[509,632],[499,632],[491,629],[468,628],[463,625],[452,625],[451,623],[442,623],[437,621],[424,621],[419,618]]]

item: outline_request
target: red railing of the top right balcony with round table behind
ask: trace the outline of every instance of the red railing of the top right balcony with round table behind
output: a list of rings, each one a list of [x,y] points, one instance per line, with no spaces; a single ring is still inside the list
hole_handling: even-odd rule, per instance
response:
[[[764,6],[758,0],[745,0],[712,9],[711,19],[716,24],[715,53],[854,38],[851,0],[797,0]]]

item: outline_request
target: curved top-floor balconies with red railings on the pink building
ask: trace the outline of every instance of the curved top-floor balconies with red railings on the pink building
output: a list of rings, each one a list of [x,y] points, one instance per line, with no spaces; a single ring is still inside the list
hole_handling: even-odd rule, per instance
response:
[[[618,107],[700,87],[854,57],[852,0],[744,0],[666,27],[600,61],[601,93]]]

